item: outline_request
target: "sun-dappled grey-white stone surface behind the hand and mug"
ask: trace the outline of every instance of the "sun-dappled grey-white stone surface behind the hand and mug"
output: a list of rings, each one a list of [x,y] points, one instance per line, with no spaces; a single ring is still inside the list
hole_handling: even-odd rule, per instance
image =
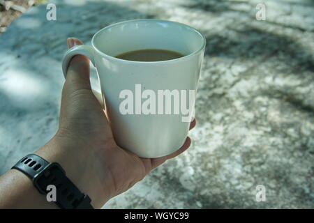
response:
[[[0,35],[0,174],[57,130],[67,37],[158,18],[207,38],[193,145],[104,208],[314,208],[313,1],[51,2],[56,21],[34,6]]]

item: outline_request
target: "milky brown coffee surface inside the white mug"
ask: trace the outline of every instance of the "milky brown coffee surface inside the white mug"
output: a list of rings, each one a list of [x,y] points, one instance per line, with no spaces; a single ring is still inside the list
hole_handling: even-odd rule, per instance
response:
[[[178,52],[166,49],[141,49],[125,52],[115,57],[127,61],[168,61],[184,56]]]

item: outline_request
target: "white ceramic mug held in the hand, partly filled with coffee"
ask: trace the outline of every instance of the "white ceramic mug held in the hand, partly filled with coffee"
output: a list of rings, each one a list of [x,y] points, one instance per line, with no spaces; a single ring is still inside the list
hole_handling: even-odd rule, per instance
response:
[[[77,45],[68,49],[63,58],[63,75],[66,76],[72,56],[83,54],[89,57],[98,72],[101,95],[117,145],[140,157],[169,155],[184,144],[190,122],[182,121],[183,114],[122,114],[121,92],[127,89],[136,97],[138,86],[142,91],[150,89],[156,95],[158,90],[166,89],[196,91],[205,42],[199,31],[178,22],[119,22],[100,29],[93,36],[91,46]],[[139,49],[167,49],[185,56],[153,62],[114,57]],[[194,101],[192,104],[194,106]],[[138,104],[135,109],[136,106]],[[189,113],[189,120],[191,116]]]

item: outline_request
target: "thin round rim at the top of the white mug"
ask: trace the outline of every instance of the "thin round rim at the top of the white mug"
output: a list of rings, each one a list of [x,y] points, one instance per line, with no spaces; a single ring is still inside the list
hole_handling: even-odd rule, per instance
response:
[[[112,26],[117,26],[117,25],[121,25],[121,24],[124,24],[124,23],[128,23],[128,22],[140,22],[140,21],[143,21],[143,22],[167,22],[167,23],[172,23],[172,24],[177,24],[177,25],[180,25],[180,26],[186,26],[190,29],[192,29],[195,33],[197,33],[201,39],[202,39],[202,44],[200,46],[200,48],[198,48],[197,50],[191,52],[190,54],[187,54],[186,56],[181,56],[177,59],[171,59],[171,60],[167,60],[167,61],[128,61],[128,60],[124,60],[124,59],[119,59],[117,57],[114,57],[114,56],[110,56],[108,54],[105,54],[104,52],[102,52],[100,49],[98,49],[96,47],[96,45],[94,44],[94,40],[96,38],[96,36],[98,36],[99,33],[105,31],[106,29],[109,29],[111,28]],[[98,30],[93,38],[91,38],[91,45],[93,46],[93,48],[96,50],[96,52],[98,52],[98,54],[101,54],[102,56],[104,57],[108,57],[109,59],[113,59],[115,61],[120,61],[120,62],[124,62],[124,63],[144,63],[144,64],[151,64],[151,63],[172,63],[172,62],[175,62],[175,61],[181,61],[181,60],[184,60],[184,59],[188,59],[190,58],[191,56],[194,56],[195,54],[198,54],[200,52],[202,52],[202,50],[204,49],[205,45],[206,45],[206,38],[204,37],[204,35],[198,31],[197,29],[193,28],[192,26],[188,26],[186,24],[183,24],[181,22],[174,22],[174,21],[170,21],[170,20],[156,20],[156,19],[139,19],[139,20],[126,20],[126,21],[122,21],[122,22],[117,22],[117,23],[114,23],[114,24],[110,24],[109,26],[105,26],[104,28]]]

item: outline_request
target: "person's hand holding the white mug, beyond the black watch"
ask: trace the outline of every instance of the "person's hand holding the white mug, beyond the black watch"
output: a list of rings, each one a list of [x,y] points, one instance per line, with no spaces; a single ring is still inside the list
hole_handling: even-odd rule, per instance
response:
[[[80,44],[76,38],[68,39],[69,48]],[[190,129],[195,124],[194,119]],[[187,137],[179,150],[158,158],[141,158],[117,146],[105,111],[91,91],[89,59],[77,55],[70,61],[63,86],[59,130],[36,153],[59,162],[73,183],[91,197],[94,208],[100,208],[152,169],[184,152],[190,143]]]

